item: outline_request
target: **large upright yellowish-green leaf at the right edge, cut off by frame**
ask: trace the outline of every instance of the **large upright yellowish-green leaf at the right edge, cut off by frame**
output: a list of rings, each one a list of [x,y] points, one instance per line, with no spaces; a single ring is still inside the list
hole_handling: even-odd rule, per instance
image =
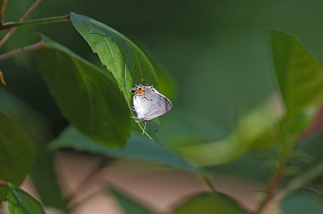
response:
[[[323,99],[323,71],[319,62],[291,35],[268,32],[279,88],[291,118]]]

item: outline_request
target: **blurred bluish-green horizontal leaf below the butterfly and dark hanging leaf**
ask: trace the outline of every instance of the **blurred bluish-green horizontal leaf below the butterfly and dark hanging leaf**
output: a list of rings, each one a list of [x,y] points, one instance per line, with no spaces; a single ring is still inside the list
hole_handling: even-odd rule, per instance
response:
[[[128,140],[126,148],[111,149],[94,143],[89,138],[78,132],[73,126],[69,126],[58,138],[53,140],[48,147],[51,150],[73,148],[76,151],[87,151],[94,154],[104,154],[106,156],[117,158],[144,159],[189,172],[202,172],[202,169],[190,166],[180,156],[172,151],[166,151],[160,146],[151,144],[147,139],[145,139],[146,138],[143,138],[141,134],[133,133],[132,138]]]

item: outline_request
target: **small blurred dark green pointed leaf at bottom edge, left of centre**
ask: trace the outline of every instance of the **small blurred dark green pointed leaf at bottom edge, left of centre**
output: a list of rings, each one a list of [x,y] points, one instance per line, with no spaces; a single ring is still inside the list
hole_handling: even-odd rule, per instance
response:
[[[120,202],[122,208],[127,214],[152,214],[147,208],[138,204],[137,202],[131,200],[125,195],[121,194],[119,191],[113,189],[112,193],[117,197]]]

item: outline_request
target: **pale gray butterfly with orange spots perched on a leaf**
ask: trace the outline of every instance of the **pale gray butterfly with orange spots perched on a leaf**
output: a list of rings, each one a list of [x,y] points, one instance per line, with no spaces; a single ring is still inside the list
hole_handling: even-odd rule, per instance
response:
[[[145,127],[147,120],[166,114],[173,107],[172,102],[152,86],[136,85],[130,92],[134,94],[133,107],[137,113],[137,117],[133,118],[138,119],[137,122],[145,123]],[[142,134],[145,132],[145,127]]]

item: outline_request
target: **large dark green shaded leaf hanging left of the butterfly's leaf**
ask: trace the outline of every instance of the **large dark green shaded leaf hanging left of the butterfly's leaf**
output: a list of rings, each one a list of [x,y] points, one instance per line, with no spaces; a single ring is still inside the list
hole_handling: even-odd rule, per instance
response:
[[[67,119],[94,141],[124,146],[129,137],[129,108],[114,79],[49,38],[37,51],[42,74]]]

